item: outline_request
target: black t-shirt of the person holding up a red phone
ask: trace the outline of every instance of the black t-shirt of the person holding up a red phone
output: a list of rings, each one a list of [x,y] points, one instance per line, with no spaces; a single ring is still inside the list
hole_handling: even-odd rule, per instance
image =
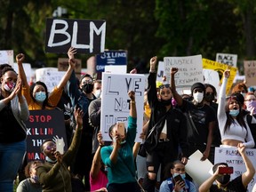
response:
[[[242,175],[236,177],[236,179],[231,180],[228,183],[228,186],[226,188],[218,188],[217,185],[212,185],[210,188],[210,192],[246,192],[247,188],[244,188],[243,182],[242,182]]]

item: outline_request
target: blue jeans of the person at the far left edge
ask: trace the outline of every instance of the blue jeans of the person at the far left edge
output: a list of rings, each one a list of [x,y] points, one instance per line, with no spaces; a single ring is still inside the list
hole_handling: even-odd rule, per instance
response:
[[[26,140],[0,143],[0,192],[13,192],[13,180],[16,178],[26,149]]]

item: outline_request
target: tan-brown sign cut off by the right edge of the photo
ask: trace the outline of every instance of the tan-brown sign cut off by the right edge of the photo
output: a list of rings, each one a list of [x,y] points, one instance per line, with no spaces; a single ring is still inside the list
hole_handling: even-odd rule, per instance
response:
[[[256,60],[244,60],[244,75],[247,86],[256,85]]]

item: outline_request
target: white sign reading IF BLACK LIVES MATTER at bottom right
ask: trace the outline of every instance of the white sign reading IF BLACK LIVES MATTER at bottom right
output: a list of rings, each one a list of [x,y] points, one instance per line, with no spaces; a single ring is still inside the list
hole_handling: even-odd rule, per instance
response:
[[[256,149],[255,148],[245,148],[246,156],[252,161],[254,167],[256,167]],[[234,167],[234,173],[231,174],[231,180],[235,179],[237,176],[241,175],[246,171],[244,160],[240,156],[236,148],[215,148],[215,158],[214,163],[226,163],[228,166]],[[248,185],[248,191],[252,191],[254,184],[256,183],[256,176],[254,175],[252,181]]]

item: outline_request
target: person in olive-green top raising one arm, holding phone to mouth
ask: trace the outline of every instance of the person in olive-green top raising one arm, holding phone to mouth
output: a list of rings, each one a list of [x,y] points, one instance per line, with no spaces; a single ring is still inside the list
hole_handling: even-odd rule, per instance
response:
[[[83,129],[83,111],[75,109],[76,132],[68,151],[64,155],[56,150],[56,143],[45,140],[41,149],[45,156],[43,165],[36,167],[37,176],[42,184],[43,191],[72,191],[71,174],[68,166],[72,163],[79,147]]]

